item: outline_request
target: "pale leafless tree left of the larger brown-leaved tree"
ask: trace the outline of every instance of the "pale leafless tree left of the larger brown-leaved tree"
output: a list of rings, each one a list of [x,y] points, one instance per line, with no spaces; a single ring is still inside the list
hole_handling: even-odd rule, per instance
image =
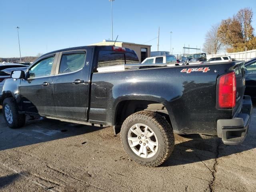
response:
[[[212,25],[210,30],[205,35],[205,42],[203,45],[203,51],[207,54],[217,54],[222,48],[222,42],[218,36],[218,28],[220,24]]]

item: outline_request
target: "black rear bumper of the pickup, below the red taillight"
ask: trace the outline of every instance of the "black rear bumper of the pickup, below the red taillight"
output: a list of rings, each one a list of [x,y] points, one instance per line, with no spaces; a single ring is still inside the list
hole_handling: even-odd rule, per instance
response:
[[[227,145],[241,144],[248,133],[252,115],[252,100],[244,96],[242,111],[233,119],[219,119],[217,121],[217,134]]]

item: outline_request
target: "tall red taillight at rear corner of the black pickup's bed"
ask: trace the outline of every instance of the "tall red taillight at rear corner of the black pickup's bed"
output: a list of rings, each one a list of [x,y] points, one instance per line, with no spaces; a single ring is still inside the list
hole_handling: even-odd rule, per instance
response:
[[[234,108],[236,106],[236,74],[231,72],[220,76],[218,80],[218,107]]]

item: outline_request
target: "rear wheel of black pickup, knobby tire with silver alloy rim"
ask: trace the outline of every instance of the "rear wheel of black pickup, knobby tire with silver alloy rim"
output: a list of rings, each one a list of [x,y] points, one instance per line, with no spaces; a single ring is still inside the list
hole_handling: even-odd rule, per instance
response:
[[[126,118],[121,140],[132,160],[150,167],[164,163],[174,149],[172,127],[156,112],[140,111]]]

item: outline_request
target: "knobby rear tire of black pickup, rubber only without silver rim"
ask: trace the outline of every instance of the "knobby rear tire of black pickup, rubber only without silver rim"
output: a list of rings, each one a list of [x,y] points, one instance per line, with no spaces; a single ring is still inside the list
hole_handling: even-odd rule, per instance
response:
[[[135,124],[144,124],[152,129],[158,140],[158,150],[150,158],[142,158],[136,155],[128,143],[128,131]],[[121,140],[126,154],[138,164],[156,167],[164,163],[174,149],[174,134],[172,127],[166,119],[156,112],[139,111],[124,120],[121,128]]]

